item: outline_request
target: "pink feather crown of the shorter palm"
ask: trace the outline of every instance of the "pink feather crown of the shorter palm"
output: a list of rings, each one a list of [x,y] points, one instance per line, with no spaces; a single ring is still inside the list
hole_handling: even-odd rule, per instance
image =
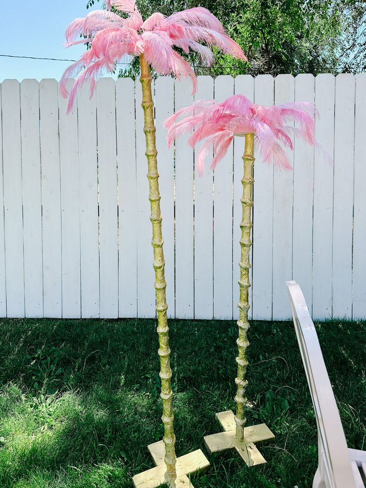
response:
[[[293,102],[265,107],[252,103],[244,95],[234,95],[221,103],[198,100],[169,117],[164,126],[168,129],[168,146],[184,133],[190,133],[188,143],[194,147],[205,139],[197,153],[196,167],[199,175],[204,171],[207,150],[214,147],[213,170],[226,154],[235,135],[254,133],[260,146],[263,161],[277,169],[292,169],[284,147],[293,149],[292,135],[308,144],[319,147],[329,162],[329,154],[315,139],[315,117],[318,111],[313,103]],[[298,127],[288,125],[295,122]]]

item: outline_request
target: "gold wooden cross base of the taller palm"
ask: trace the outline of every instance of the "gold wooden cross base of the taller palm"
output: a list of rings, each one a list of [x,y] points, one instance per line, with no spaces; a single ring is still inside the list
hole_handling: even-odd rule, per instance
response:
[[[163,441],[154,442],[148,447],[149,452],[154,460],[155,468],[139,473],[132,478],[133,486],[135,488],[156,488],[166,483],[166,466],[164,462],[165,445]],[[180,458],[177,458],[176,470],[177,470],[177,488],[194,488],[190,483],[187,475],[202,471],[210,463],[206,459],[206,456],[200,449],[197,451],[185,454]]]

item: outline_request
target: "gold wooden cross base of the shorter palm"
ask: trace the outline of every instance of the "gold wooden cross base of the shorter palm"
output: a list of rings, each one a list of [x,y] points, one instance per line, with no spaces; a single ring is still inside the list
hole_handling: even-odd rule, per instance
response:
[[[248,466],[263,464],[267,461],[255,446],[255,442],[274,439],[275,435],[266,424],[252,425],[244,428],[244,441],[238,441],[235,437],[235,417],[231,410],[216,413],[224,432],[206,435],[204,444],[210,455],[214,452],[236,449],[240,457]]]

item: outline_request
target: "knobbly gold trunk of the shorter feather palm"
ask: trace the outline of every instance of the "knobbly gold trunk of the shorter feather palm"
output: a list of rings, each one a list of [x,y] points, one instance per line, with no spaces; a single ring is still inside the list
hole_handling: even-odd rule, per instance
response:
[[[235,401],[237,403],[235,423],[236,423],[236,438],[238,440],[244,439],[244,426],[246,418],[244,415],[244,407],[247,402],[245,396],[245,390],[247,388],[248,382],[245,379],[245,374],[247,372],[248,360],[246,350],[249,346],[249,341],[247,339],[247,332],[249,329],[248,322],[248,310],[249,310],[249,300],[248,292],[250,287],[249,281],[249,270],[250,270],[250,250],[252,246],[252,241],[250,240],[250,233],[252,229],[252,208],[253,208],[253,168],[254,168],[254,134],[245,134],[245,150],[243,155],[244,162],[244,176],[242,179],[243,184],[243,196],[241,198],[242,202],[242,221],[240,223],[240,228],[242,231],[240,246],[241,246],[241,259],[239,263],[240,267],[240,299],[238,303],[239,307],[239,320],[237,322],[239,327],[239,337],[237,339],[238,344],[238,357],[236,362],[238,364],[238,376],[235,378],[235,383],[237,385],[237,392],[235,396]]]

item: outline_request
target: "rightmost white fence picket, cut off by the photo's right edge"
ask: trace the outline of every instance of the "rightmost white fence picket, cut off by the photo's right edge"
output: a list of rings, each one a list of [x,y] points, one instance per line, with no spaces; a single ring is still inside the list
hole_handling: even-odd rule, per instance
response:
[[[356,79],[353,318],[366,317],[366,74]]]

